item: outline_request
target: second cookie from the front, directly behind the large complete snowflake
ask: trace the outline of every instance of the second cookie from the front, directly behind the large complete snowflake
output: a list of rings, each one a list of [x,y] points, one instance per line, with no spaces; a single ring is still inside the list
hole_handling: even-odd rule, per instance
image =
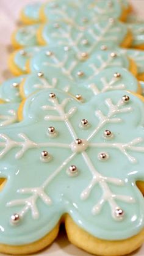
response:
[[[9,83],[10,84],[10,83]],[[4,84],[5,86],[5,84]],[[109,90],[131,90],[132,92],[142,93],[142,89],[129,71],[120,67],[111,67],[99,72],[98,75],[93,75],[90,79],[85,76],[85,79],[78,83],[71,81],[62,74],[55,73],[54,76],[44,75],[43,73],[27,75],[21,82],[18,89],[20,89],[21,98],[27,98],[32,93],[44,89],[60,89],[64,92],[70,93],[77,100],[90,100],[93,95]],[[11,86],[3,93],[4,98],[10,98],[12,101],[17,101],[15,95],[11,95]]]

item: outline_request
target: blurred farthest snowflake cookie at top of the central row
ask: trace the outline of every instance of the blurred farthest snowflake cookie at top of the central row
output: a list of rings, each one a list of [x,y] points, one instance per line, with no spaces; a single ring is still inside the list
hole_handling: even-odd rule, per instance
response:
[[[67,2],[67,4],[66,4]],[[88,10],[88,12],[87,12]],[[129,12],[127,1],[91,0],[91,1],[51,1],[41,6],[41,21],[64,20],[67,23],[85,26],[95,23],[101,16],[126,20]]]

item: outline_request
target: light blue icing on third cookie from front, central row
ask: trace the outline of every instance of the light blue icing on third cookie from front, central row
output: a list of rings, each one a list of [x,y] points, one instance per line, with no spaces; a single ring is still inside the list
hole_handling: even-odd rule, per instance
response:
[[[46,52],[51,52],[51,56],[46,55]],[[129,60],[126,54],[118,54],[112,57],[113,51],[95,51],[92,57],[86,61],[79,61],[79,56],[72,49],[65,51],[63,47],[49,47],[48,50],[42,50],[31,59],[31,71],[42,71],[45,75],[57,76],[63,73],[69,79],[76,79],[77,82],[89,78],[94,74],[107,67],[120,66],[126,69],[129,68]],[[83,71],[83,76],[78,76],[77,72]]]

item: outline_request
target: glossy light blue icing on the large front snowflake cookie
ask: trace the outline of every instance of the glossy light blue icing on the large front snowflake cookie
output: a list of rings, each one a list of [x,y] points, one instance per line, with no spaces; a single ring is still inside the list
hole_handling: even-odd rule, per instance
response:
[[[5,155],[1,155],[0,161],[1,177],[8,178],[0,193],[2,230],[0,243],[21,245],[40,240],[56,226],[64,213],[70,214],[74,222],[82,229],[104,240],[123,240],[137,235],[144,227],[144,200],[135,185],[135,181],[144,180],[142,101],[123,90],[101,93],[88,103],[77,102],[74,98],[63,101],[68,98],[67,94],[56,89],[52,92],[57,96],[52,101],[49,98],[51,90],[43,90],[33,95],[24,106],[23,122],[0,130],[2,134],[1,150],[5,152],[5,139],[8,140],[5,143],[9,143],[9,139],[13,141],[11,148],[7,148]],[[123,95],[129,96],[128,103],[121,101]],[[63,104],[65,102],[65,107],[62,105],[62,101]],[[63,112],[57,112],[58,103],[59,107],[63,108]],[[113,108],[112,103],[117,105],[116,112],[111,109]],[[52,110],[53,104],[56,105]],[[68,114],[67,125],[63,120],[64,113]],[[96,132],[95,129],[99,127],[102,115],[109,120],[107,124],[103,123],[101,129],[99,128]],[[79,126],[82,119],[88,120],[90,126],[87,129],[82,129]],[[49,126],[56,128],[57,137],[47,135]],[[103,132],[106,129],[112,131],[111,139],[104,139]],[[91,137],[88,147],[83,147],[80,150],[77,146],[74,155],[72,152],[74,138],[79,137],[84,141],[92,136],[94,131],[95,136]],[[137,139],[138,136],[139,139]],[[25,151],[21,151],[27,139],[38,145],[35,148],[34,144],[31,144],[32,142],[30,144],[28,142]],[[24,140],[26,141],[24,142]],[[128,146],[130,142],[131,145]],[[45,147],[40,146],[41,143],[45,143]],[[52,143],[57,146],[51,147]],[[59,143],[63,144],[62,148],[59,147]],[[71,147],[65,148],[67,144]],[[123,148],[120,150],[117,145],[124,145],[126,151]],[[42,150],[47,150],[52,156],[48,163],[43,163],[40,160]],[[77,150],[80,152],[77,153]],[[99,161],[99,152],[106,152],[109,154],[109,158],[106,161]],[[16,156],[21,156],[21,158],[15,158]],[[64,161],[65,165],[58,172],[57,168],[62,166]],[[68,167],[71,165],[77,167],[77,176],[71,177],[67,174]],[[93,183],[88,198],[82,200],[82,192],[92,181],[92,173],[95,174],[95,172],[96,177],[98,174],[105,177],[103,183],[99,183],[99,181],[99,184]],[[51,181],[48,180],[50,177]],[[102,184],[104,185],[103,190]],[[37,189],[42,188],[42,185],[45,188],[44,194],[39,197]],[[34,190],[35,192],[32,192],[33,188],[37,188]],[[109,202],[104,202],[99,214],[93,215],[92,208],[99,200],[103,199],[104,193],[107,191],[106,188],[110,189],[110,195],[115,194],[111,200],[111,207]],[[31,204],[31,208],[29,206],[26,211],[24,207],[26,207],[26,202],[29,203],[30,198],[35,198],[35,200]],[[50,199],[51,205],[46,205]],[[33,208],[35,206],[37,206],[36,210]],[[123,218],[118,220],[112,216],[112,212],[117,206],[124,211]],[[9,222],[13,213],[18,213],[21,216],[20,223],[14,226]]]

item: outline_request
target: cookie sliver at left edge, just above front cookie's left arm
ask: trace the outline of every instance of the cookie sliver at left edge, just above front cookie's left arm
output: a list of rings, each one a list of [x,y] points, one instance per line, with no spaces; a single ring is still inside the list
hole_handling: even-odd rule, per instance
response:
[[[0,104],[0,128],[18,122],[19,106],[19,103]]]

